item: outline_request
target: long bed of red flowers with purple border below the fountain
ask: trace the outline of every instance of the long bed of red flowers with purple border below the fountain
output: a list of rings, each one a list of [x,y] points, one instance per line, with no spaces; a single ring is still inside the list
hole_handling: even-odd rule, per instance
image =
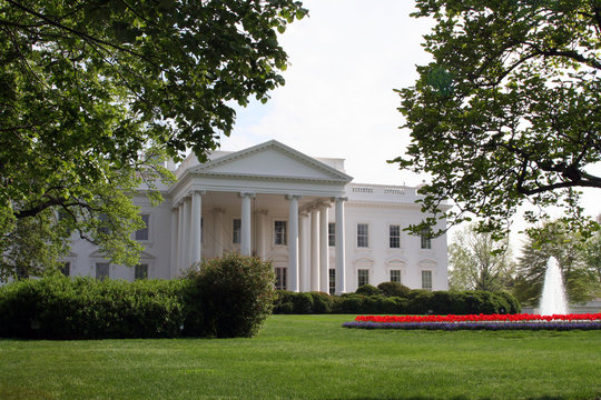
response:
[[[601,330],[601,313],[358,316],[354,321],[345,322],[343,327],[405,330]]]

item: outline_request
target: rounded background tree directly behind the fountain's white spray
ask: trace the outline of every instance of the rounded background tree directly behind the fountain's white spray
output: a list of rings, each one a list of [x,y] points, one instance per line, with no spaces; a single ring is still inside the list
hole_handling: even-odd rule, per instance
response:
[[[599,280],[587,254],[593,241],[585,241],[561,220],[545,221],[528,231],[528,241],[518,264],[514,294],[523,303],[539,303],[546,263],[554,257],[562,271],[568,299],[572,303],[590,300],[599,290]],[[599,257],[599,256],[597,256]]]

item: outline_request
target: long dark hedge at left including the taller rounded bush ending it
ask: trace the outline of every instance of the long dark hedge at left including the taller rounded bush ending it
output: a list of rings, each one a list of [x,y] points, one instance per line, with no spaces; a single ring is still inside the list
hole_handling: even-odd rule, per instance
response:
[[[270,313],[272,266],[235,254],[176,280],[47,277],[0,287],[0,337],[249,337]]]

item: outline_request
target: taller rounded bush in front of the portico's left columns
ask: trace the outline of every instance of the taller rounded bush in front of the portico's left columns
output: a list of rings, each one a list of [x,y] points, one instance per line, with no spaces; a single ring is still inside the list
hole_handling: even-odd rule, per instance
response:
[[[272,313],[275,277],[270,262],[235,253],[204,261],[188,279],[198,287],[204,334],[253,337]]]

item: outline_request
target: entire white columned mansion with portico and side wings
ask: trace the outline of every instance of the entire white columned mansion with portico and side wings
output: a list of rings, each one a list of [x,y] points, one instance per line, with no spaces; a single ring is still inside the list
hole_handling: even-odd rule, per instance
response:
[[[177,182],[161,189],[160,206],[135,199],[147,224],[135,233],[145,246],[140,264],[109,264],[75,240],[70,274],[168,279],[201,258],[239,251],[272,260],[277,287],[293,291],[342,293],[384,281],[447,289],[446,237],[403,231],[424,218],[415,188],[353,183],[343,159],[275,140],[215,151],[206,163],[190,154],[170,168]]]

